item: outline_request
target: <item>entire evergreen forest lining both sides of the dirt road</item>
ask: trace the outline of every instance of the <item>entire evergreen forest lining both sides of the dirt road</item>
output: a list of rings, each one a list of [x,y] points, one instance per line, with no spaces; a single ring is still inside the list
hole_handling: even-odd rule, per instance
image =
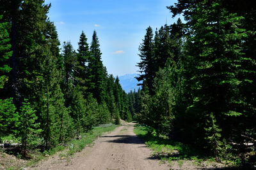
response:
[[[216,162],[246,164],[256,145],[256,9],[253,1],[178,0],[178,18],[147,27],[138,91],[102,63],[99,38],[61,45],[44,0],[1,0],[0,143],[41,152],[102,124],[132,120]]]

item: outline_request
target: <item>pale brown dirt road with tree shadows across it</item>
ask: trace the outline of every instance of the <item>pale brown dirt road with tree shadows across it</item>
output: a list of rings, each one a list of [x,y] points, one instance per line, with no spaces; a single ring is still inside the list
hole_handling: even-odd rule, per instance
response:
[[[151,159],[151,150],[134,134],[133,128],[134,124],[123,123],[71,160],[54,156],[30,169],[170,169],[167,164]]]

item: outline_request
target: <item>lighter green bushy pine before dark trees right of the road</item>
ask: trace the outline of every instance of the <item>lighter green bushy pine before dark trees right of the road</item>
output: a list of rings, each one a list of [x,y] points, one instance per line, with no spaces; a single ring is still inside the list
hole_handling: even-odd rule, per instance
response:
[[[151,117],[158,134],[169,134],[172,131],[175,118],[176,97],[176,69],[175,61],[168,59],[166,67],[160,69],[154,79],[155,95],[150,103]]]

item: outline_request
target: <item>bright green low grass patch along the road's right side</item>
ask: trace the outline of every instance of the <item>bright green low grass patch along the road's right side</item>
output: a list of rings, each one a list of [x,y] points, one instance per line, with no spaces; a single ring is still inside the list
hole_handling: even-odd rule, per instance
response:
[[[159,159],[160,162],[177,162],[182,167],[184,160],[190,160],[195,166],[205,164],[216,164],[214,157],[205,153],[203,150],[190,145],[185,145],[169,139],[167,136],[157,136],[156,133],[150,133],[147,126],[136,125],[134,133],[145,141],[145,144],[153,151],[151,159]],[[224,165],[225,164],[225,165]],[[230,160],[223,161],[223,166],[234,166]]]

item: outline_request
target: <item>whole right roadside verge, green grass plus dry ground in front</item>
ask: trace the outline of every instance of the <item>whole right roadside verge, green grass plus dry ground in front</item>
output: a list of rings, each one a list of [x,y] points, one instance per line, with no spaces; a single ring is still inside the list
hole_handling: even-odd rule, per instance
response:
[[[147,125],[137,124],[134,127],[134,133],[145,144],[152,149],[150,159],[161,160],[161,163],[168,163],[171,169],[192,169],[200,168],[220,168],[220,169],[244,169],[241,167],[241,158],[236,155],[228,155],[222,162],[216,162],[211,153],[207,153],[204,148],[186,145],[174,141],[168,136],[157,135],[156,131]],[[253,169],[253,167],[246,167]]]

